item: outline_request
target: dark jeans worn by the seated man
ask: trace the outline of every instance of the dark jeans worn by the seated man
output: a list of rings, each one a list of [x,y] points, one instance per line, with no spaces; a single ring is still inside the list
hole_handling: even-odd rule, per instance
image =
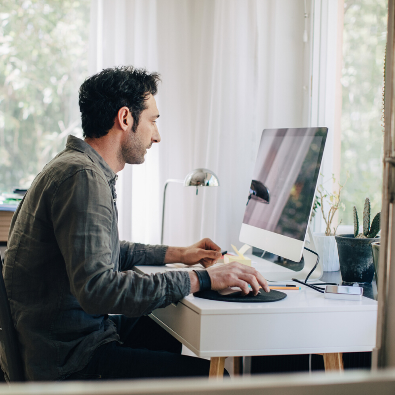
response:
[[[181,343],[150,317],[109,319],[123,344],[100,346],[88,365],[67,380],[208,376],[210,361],[181,355]]]

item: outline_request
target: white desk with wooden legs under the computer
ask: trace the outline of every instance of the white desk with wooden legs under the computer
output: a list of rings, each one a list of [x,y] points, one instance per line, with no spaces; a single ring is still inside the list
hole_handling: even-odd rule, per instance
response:
[[[263,274],[279,271],[273,263],[254,266]],[[165,269],[136,267],[146,274]],[[323,294],[301,287],[300,291],[284,291],[285,299],[270,303],[219,302],[191,294],[150,316],[197,356],[211,357],[212,363],[225,359],[213,357],[324,354],[325,368],[330,364],[341,368],[342,360],[334,360],[342,357],[338,353],[373,350],[375,300],[324,299]]]

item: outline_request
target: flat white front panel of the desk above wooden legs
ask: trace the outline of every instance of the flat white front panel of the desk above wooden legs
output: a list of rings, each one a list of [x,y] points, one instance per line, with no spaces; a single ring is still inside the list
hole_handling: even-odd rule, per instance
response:
[[[376,322],[374,311],[206,315],[201,319],[200,356],[372,351]]]

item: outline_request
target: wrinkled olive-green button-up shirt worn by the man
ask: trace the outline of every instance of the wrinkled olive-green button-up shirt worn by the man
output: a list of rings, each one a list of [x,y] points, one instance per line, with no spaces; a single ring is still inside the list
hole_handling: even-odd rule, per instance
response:
[[[167,247],[119,242],[117,177],[69,136],[12,218],[3,276],[28,380],[67,377],[118,341],[108,314],[146,315],[190,292],[187,272],[131,270],[162,265]],[[2,343],[0,363],[7,372]]]

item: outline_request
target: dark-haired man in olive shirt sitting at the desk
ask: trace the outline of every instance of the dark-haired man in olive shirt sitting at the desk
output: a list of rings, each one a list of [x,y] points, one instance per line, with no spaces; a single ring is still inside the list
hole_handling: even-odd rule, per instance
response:
[[[160,141],[158,79],[132,67],[86,79],[84,141],[69,136],[13,216],[3,275],[28,380],[205,375],[206,360],[180,355],[180,344],[144,315],[201,287],[268,290],[252,268],[210,268],[221,253],[209,239],[186,248],[119,242],[116,173],[143,163]],[[208,269],[131,270],[171,262]]]

